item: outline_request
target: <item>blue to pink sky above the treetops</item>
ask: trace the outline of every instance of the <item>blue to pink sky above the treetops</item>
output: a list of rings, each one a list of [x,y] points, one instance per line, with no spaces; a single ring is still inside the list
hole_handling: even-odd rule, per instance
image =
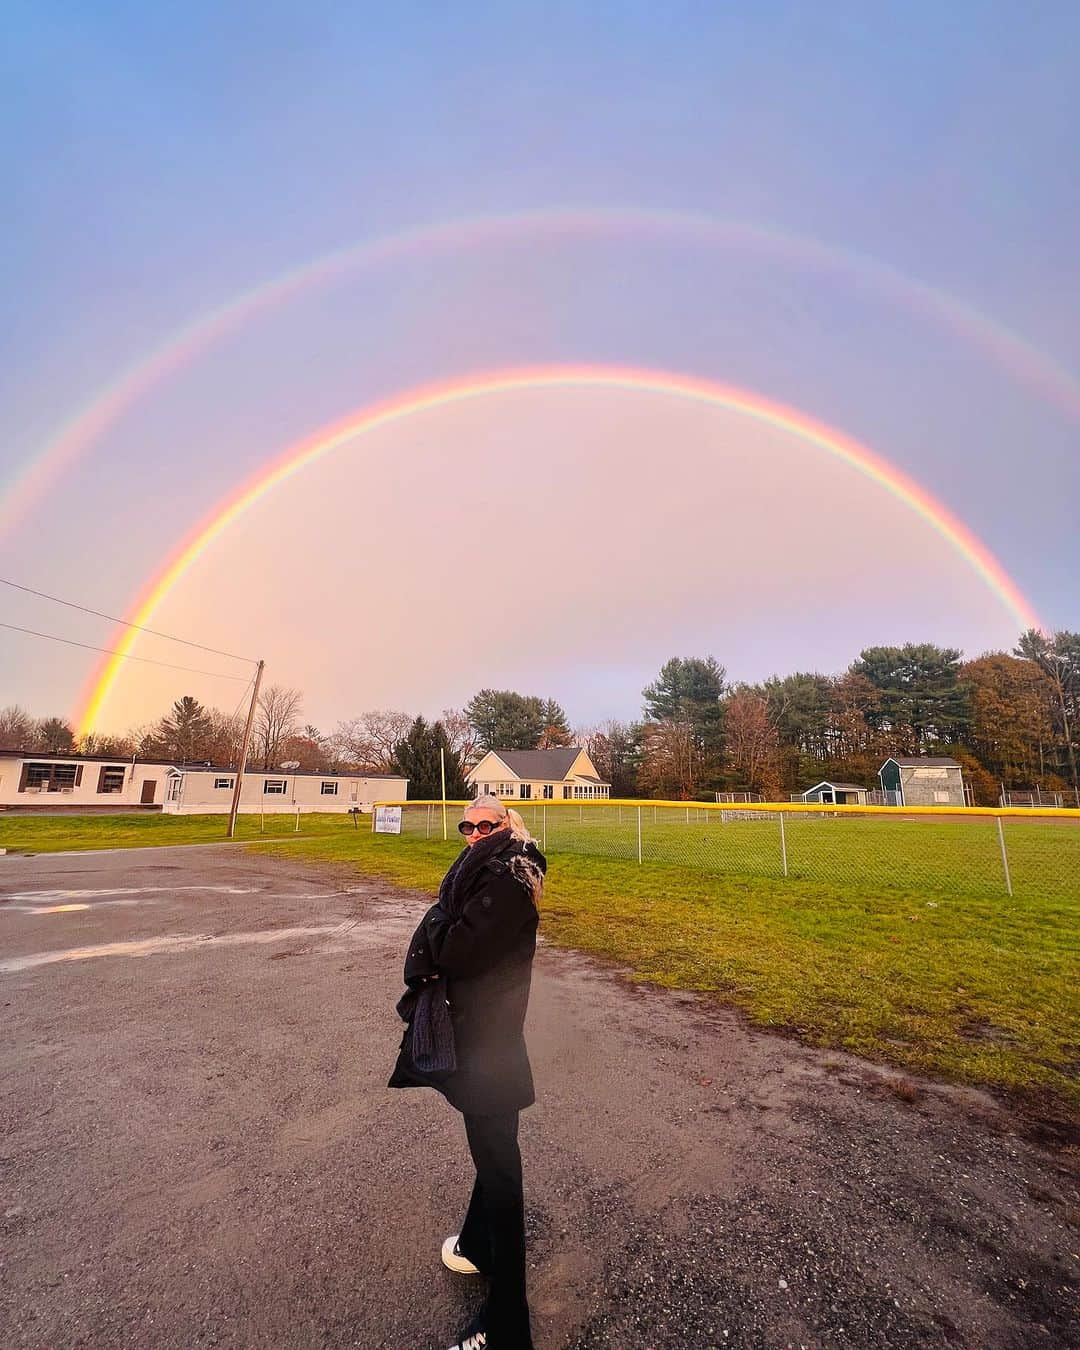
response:
[[[131,618],[321,428],[485,371],[634,367],[859,443],[1080,626],[1075,5],[16,0],[5,36],[0,576]],[[0,621],[124,636],[8,587]],[[556,383],[324,455],[144,622],[265,657],[324,729],[486,686],[630,718],[672,655],[755,680],[1021,626],[806,437]],[[250,670],[131,652],[99,729],[230,710]],[[0,629],[0,705],[80,720],[100,660]]]

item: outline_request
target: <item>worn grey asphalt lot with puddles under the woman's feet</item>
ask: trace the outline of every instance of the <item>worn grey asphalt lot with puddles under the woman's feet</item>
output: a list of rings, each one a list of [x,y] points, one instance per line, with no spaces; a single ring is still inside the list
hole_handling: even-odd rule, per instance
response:
[[[460,1118],[385,1087],[427,903],[285,850],[0,857],[5,1350],[451,1343]],[[537,1347],[1080,1345],[1076,1177],[988,1098],[549,948],[526,1031]]]

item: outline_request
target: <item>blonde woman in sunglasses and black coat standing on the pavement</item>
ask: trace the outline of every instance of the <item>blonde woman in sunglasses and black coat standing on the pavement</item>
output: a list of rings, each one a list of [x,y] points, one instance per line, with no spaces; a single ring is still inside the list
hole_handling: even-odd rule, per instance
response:
[[[536,1100],[522,1027],[547,860],[497,796],[471,802],[458,829],[466,848],[405,957],[410,990],[446,980],[456,1064],[440,1075],[417,1069],[410,1025],[389,1085],[437,1088],[464,1116],[477,1166],[462,1231],[443,1243],[443,1264],[491,1282],[451,1350],[531,1350],[517,1123]]]

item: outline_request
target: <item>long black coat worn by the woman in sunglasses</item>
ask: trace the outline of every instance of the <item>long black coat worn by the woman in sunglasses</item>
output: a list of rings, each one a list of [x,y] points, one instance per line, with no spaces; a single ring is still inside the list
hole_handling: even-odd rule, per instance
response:
[[[470,1115],[520,1111],[536,1100],[524,1023],[539,913],[510,869],[520,853],[547,868],[536,845],[509,840],[456,895],[456,918],[440,902],[420,921],[405,957],[405,983],[447,977],[458,1068],[437,1081],[417,1075],[406,1027],[389,1087],[433,1087]]]

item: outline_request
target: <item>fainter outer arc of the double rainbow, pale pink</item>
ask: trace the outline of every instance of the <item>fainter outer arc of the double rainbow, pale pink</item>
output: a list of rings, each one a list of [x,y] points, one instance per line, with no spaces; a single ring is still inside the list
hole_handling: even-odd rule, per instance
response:
[[[65,423],[53,439],[0,486],[0,536],[15,528],[66,467],[89,451],[124,413],[169,375],[243,328],[267,309],[339,277],[410,256],[513,243],[535,236],[610,238],[656,235],[764,252],[791,263],[841,273],[888,300],[929,317],[980,347],[999,367],[1080,423],[1080,382],[1053,358],[995,319],[876,258],[748,221],[716,220],[694,212],[641,208],[549,208],[516,215],[474,216],[420,225],[324,254],[200,315],[146,356],[123,370]]]

